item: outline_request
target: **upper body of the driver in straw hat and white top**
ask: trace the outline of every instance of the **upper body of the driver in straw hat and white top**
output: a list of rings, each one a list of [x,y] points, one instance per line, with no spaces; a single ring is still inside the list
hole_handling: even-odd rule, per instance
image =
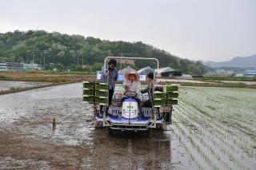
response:
[[[139,75],[136,71],[130,71],[125,75],[126,81],[123,81],[123,87],[126,91],[134,91],[136,93],[140,93],[141,91],[141,83],[139,81]]]

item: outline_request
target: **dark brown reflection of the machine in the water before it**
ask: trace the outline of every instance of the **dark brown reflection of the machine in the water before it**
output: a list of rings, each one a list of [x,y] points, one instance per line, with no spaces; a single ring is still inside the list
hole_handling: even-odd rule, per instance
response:
[[[150,136],[140,132],[94,131],[92,156],[84,161],[86,168],[169,169],[170,135],[152,130]]]

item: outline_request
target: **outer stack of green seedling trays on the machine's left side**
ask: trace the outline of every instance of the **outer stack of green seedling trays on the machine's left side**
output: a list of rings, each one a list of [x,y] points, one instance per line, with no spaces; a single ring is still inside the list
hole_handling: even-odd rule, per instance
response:
[[[82,101],[87,101],[91,104],[94,103],[95,84],[92,82],[84,81],[82,88]]]

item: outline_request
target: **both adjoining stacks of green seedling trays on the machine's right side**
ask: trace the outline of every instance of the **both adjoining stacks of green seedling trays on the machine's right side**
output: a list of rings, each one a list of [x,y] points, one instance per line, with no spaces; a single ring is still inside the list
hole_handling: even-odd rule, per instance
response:
[[[154,92],[154,106],[178,105],[179,85],[166,85],[163,92]]]

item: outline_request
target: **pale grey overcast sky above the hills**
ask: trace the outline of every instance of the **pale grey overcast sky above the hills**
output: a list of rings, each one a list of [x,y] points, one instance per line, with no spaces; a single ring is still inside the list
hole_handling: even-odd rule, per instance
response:
[[[0,32],[144,42],[190,60],[256,54],[256,0],[0,0]]]

